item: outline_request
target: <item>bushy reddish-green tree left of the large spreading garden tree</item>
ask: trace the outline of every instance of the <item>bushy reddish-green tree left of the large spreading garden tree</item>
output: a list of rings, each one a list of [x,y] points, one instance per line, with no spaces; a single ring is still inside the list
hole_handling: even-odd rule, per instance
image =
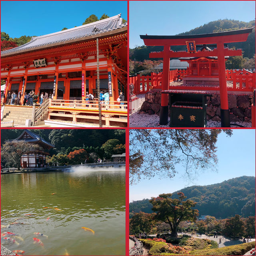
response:
[[[155,215],[155,213],[135,213],[129,221],[130,234],[136,234],[139,232],[150,233],[150,230],[152,230],[156,224],[156,221],[154,220]]]

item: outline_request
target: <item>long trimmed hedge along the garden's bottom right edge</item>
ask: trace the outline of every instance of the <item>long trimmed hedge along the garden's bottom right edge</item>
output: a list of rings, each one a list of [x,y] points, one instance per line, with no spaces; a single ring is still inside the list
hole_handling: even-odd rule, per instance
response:
[[[209,250],[194,250],[189,255],[244,255],[255,247],[255,242],[226,246]]]

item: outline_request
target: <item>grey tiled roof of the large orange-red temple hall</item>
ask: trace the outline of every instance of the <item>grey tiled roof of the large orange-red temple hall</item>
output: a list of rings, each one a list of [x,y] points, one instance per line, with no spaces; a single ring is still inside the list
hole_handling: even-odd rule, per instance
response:
[[[106,18],[104,20],[98,20],[96,22],[92,22],[86,25],[78,26],[76,28],[70,28],[67,30],[55,32],[52,34],[47,34],[43,36],[34,36],[32,37],[31,41],[23,44],[21,46],[18,46],[16,48],[12,48],[10,50],[2,51],[1,55],[6,56],[11,53],[17,53],[23,52],[24,50],[42,47],[44,48],[49,46],[54,46],[56,43],[67,43],[68,41],[74,42],[76,39],[81,39],[90,36],[90,39],[92,36],[98,37],[104,36],[105,33],[110,32],[112,30],[119,30],[120,28],[126,27],[127,22],[125,24],[122,24],[122,18],[121,14],[118,14],[116,16],[112,16],[110,18]]]

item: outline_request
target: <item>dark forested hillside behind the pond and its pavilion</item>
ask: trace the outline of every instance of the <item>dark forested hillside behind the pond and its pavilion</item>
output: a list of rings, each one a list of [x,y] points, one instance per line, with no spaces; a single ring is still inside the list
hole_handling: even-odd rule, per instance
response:
[[[109,157],[112,153],[122,154],[125,152],[125,130],[84,130],[84,129],[32,129],[32,132],[41,136],[47,142],[55,146],[50,154],[69,154],[74,150],[84,149],[88,154],[95,152],[97,156]],[[1,146],[6,140],[18,138],[23,129],[8,129],[1,131]],[[112,145],[109,153],[102,145],[108,142]],[[109,159],[109,158],[108,158]]]

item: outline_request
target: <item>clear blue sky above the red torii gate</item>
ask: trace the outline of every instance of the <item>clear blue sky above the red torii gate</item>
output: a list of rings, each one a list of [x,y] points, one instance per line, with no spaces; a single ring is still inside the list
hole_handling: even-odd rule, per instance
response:
[[[130,1],[130,48],[139,35],[176,35],[218,19],[255,19],[254,1]]]

